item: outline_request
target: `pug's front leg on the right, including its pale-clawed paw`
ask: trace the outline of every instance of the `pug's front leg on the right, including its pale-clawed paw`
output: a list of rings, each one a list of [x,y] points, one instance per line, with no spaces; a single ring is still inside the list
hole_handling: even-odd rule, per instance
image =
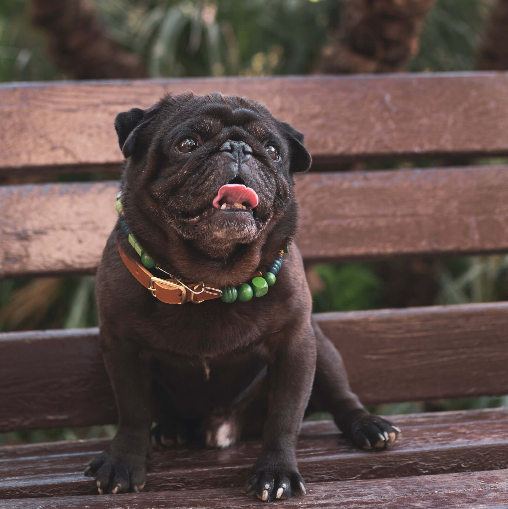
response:
[[[261,454],[248,492],[261,500],[305,493],[295,446],[309,401],[316,365],[316,344],[310,323],[292,325],[270,342],[270,393]]]

